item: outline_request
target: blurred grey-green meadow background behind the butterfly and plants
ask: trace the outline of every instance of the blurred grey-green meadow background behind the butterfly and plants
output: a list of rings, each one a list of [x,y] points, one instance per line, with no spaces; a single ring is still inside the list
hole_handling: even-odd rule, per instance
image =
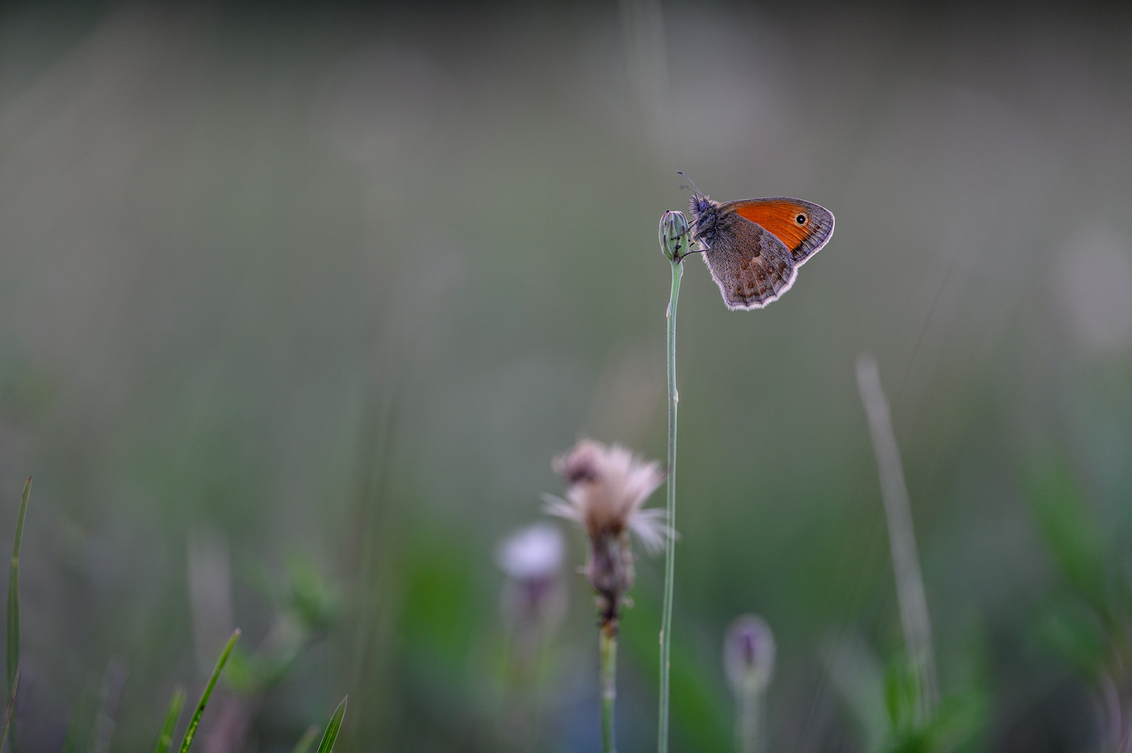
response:
[[[685,170],[837,232],[761,311],[685,265],[674,750],[731,750],[743,613],[778,643],[769,750],[883,744],[863,351],[957,744],[1122,750],[1127,7],[409,8],[0,11],[19,748],[148,750],[239,625],[201,750],[290,751],[346,693],[343,751],[598,750],[581,534],[521,681],[497,547],[577,438],[664,457],[655,229]],[[661,561],[637,571],[626,753],[657,719]]]

